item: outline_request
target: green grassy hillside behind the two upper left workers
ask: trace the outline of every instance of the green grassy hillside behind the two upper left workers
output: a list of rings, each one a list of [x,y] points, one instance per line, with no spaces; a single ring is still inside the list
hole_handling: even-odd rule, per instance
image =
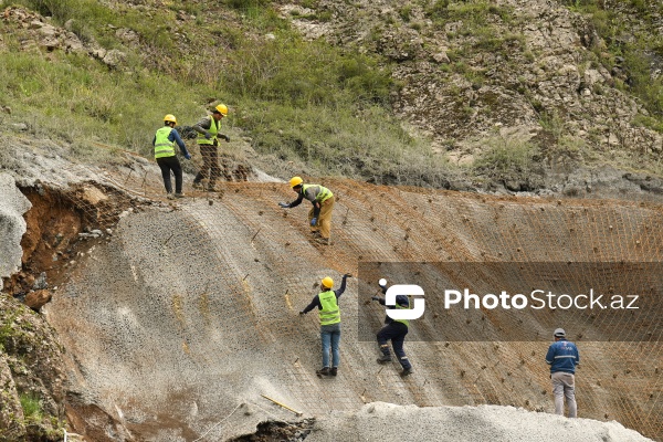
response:
[[[53,17],[56,25],[72,20],[82,40],[128,55],[120,70],[86,54],[55,52],[53,63],[42,53],[20,51],[25,31],[7,34],[9,51],[0,52],[0,104],[21,115],[32,134],[71,144],[76,156],[99,157],[98,144],[148,156],[165,114],[192,125],[212,97],[230,106],[225,126],[248,131],[259,152],[302,159],[312,172],[429,185],[444,175],[443,160],[392,117],[389,95],[398,85],[379,59],[305,42],[266,2],[231,2],[236,25],[197,19],[197,33],[177,28],[175,4],[150,9],[152,20],[146,22],[139,20],[146,8],[119,4],[115,10],[94,0],[13,3]],[[209,15],[204,4],[189,12]],[[152,27],[155,22],[168,24]],[[108,24],[134,30],[146,49],[139,53],[127,46]],[[177,46],[175,31],[187,32],[188,48],[196,50],[214,39],[224,46],[223,56],[210,59]],[[166,54],[172,60],[167,69]],[[199,56],[206,59],[198,62]],[[432,175],[424,182],[410,178],[421,171]]]

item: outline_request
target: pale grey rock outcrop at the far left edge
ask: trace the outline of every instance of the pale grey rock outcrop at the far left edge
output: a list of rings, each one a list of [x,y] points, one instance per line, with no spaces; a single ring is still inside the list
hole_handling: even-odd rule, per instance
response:
[[[21,266],[21,238],[25,233],[23,213],[31,204],[8,173],[0,173],[0,277],[8,277]]]

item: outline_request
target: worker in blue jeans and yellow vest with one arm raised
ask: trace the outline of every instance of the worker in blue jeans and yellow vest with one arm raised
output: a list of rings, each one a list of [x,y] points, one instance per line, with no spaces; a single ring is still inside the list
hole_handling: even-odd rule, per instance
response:
[[[320,340],[323,343],[323,368],[316,373],[320,376],[336,376],[338,372],[338,362],[340,355],[338,344],[340,343],[340,308],[338,298],[345,292],[346,280],[351,277],[349,273],[343,275],[340,288],[333,291],[334,281],[327,276],[320,282],[322,292],[313,297],[313,301],[306,308],[299,312],[305,315],[316,306],[320,319]],[[329,347],[332,347],[332,368],[329,368]]]

